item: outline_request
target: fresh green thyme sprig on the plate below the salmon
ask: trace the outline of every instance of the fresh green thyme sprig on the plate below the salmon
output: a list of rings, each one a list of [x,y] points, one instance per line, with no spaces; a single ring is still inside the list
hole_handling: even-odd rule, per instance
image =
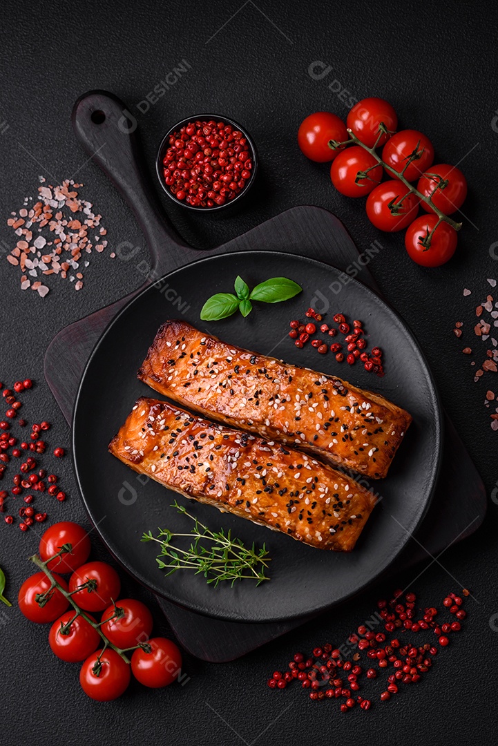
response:
[[[165,528],[158,528],[158,536],[151,531],[143,534],[142,542],[158,542],[161,554],[157,557],[157,564],[162,570],[168,570],[171,575],[180,569],[193,570],[195,574],[203,574],[207,583],[218,586],[221,580],[230,580],[233,586],[236,580],[250,578],[257,580],[256,586],[263,580],[270,580],[265,575],[268,569],[268,551],[265,545],[256,550],[253,545],[248,548],[240,539],[232,537],[231,529],[225,533],[224,529],[212,531],[194,515],[187,513],[183,505],[177,501],[171,506],[179,513],[188,516],[194,522],[190,533],[174,533]],[[175,545],[175,538],[188,537],[192,539],[188,548],[183,549]],[[165,559],[166,558],[166,559]]]

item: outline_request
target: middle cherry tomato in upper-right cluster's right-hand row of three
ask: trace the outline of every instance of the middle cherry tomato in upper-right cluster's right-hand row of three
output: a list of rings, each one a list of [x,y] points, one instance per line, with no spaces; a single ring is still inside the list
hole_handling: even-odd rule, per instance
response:
[[[419,157],[416,160],[406,163],[410,155],[417,153]],[[398,173],[402,172],[406,166],[403,176],[406,181],[415,181],[419,179],[423,172],[434,162],[434,148],[429,137],[418,132],[417,130],[402,130],[394,134],[384,145],[382,151],[382,160],[391,169]],[[394,174],[386,170],[389,178],[396,178]]]

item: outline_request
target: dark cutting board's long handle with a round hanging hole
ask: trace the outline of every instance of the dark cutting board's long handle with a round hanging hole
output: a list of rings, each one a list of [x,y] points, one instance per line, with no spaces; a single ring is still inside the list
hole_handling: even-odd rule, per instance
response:
[[[113,181],[133,210],[154,264],[158,263],[168,242],[186,247],[160,210],[145,169],[136,134],[137,122],[126,104],[113,93],[89,91],[76,101],[72,125],[86,153]]]

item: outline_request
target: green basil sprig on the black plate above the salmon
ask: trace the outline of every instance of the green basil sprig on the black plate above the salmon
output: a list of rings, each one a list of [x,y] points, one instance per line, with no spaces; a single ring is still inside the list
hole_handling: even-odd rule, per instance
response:
[[[256,285],[253,290],[249,289],[248,283],[237,275],[234,289],[236,295],[231,292],[217,292],[208,298],[201,309],[201,319],[204,322],[215,322],[232,316],[239,309],[242,316],[248,316],[253,310],[250,301],[261,301],[262,303],[281,303],[294,298],[303,289],[294,280],[288,278],[270,278]]]

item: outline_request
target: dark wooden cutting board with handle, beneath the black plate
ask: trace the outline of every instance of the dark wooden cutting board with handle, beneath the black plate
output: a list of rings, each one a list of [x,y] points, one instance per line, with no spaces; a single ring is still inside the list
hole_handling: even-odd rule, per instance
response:
[[[353,266],[356,278],[379,292],[365,263],[358,261],[358,251],[344,226],[335,216],[317,207],[294,207],[210,252],[187,246],[160,211],[157,195],[145,172],[136,133],[128,131],[125,108],[115,96],[94,91],[76,102],[73,125],[81,145],[113,181],[145,234],[151,252],[145,285],[203,255],[259,249],[305,255],[343,271]],[[95,112],[99,115],[95,116]],[[257,185],[254,189],[257,190]],[[371,251],[375,251],[375,246]],[[345,273],[344,278],[347,277]],[[69,325],[49,345],[45,377],[69,422],[81,374],[92,348],[110,320],[139,290]],[[451,543],[464,539],[484,519],[484,486],[446,416],[444,430],[438,488],[416,535],[396,562],[397,571],[435,556]],[[212,662],[239,657],[306,621],[300,618],[277,624],[240,624],[195,614],[163,598],[158,598],[158,602],[180,642],[195,656]]]

